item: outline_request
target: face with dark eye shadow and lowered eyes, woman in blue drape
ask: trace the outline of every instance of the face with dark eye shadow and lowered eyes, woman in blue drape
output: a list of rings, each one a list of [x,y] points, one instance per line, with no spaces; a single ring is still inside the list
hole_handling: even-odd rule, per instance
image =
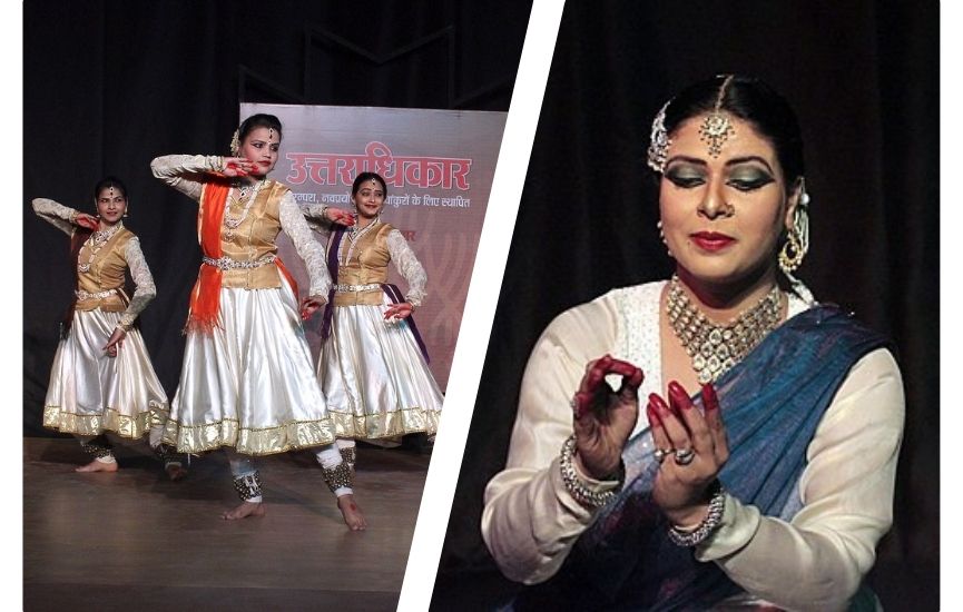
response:
[[[704,119],[688,119],[670,135],[659,184],[662,231],[682,270],[734,283],[775,266],[790,200],[776,150],[750,124],[729,116],[733,129],[711,155]]]

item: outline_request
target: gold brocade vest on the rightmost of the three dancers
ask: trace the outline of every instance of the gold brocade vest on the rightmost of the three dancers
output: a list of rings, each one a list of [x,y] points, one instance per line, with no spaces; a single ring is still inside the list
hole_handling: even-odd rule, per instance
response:
[[[387,263],[391,261],[391,253],[387,250],[387,235],[394,229],[390,224],[377,223],[375,227],[365,231],[354,243],[346,239],[341,241],[337,254],[337,284],[338,285],[372,285],[375,283],[387,283]],[[351,250],[347,263],[344,256]],[[384,299],[381,287],[365,292],[337,292],[334,294],[335,306],[377,306]]]

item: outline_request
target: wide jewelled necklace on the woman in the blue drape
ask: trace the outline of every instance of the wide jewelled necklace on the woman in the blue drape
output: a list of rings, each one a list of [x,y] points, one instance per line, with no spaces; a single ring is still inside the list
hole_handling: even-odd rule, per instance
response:
[[[691,303],[679,277],[672,275],[667,303],[669,323],[692,358],[692,369],[700,384],[714,382],[728,372],[776,328],[782,300],[779,287],[774,286],[755,306],[743,310],[728,324],[718,325]]]

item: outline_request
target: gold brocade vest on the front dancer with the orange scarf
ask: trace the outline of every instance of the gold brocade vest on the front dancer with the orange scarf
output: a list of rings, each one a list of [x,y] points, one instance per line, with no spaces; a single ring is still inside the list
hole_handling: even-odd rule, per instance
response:
[[[226,257],[238,261],[256,261],[265,255],[277,255],[277,234],[281,231],[281,198],[287,194],[287,186],[268,180],[258,193],[244,221],[227,238],[227,227],[220,225],[220,250]],[[203,197],[203,196],[202,196]],[[238,217],[242,207],[230,206],[230,199],[224,207],[225,216]],[[243,289],[269,289],[281,287],[281,275],[275,264],[266,264],[257,268],[224,270],[220,278],[222,287]]]

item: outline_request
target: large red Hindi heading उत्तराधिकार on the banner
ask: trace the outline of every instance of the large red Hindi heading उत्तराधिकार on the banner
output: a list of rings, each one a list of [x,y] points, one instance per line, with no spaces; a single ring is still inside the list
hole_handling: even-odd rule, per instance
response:
[[[316,185],[351,186],[360,172],[377,172],[392,187],[441,187],[442,189],[470,189],[468,175],[471,158],[451,157],[395,157],[387,145],[371,141],[364,155],[289,152],[291,172],[286,180],[291,185],[303,185],[311,180]]]

